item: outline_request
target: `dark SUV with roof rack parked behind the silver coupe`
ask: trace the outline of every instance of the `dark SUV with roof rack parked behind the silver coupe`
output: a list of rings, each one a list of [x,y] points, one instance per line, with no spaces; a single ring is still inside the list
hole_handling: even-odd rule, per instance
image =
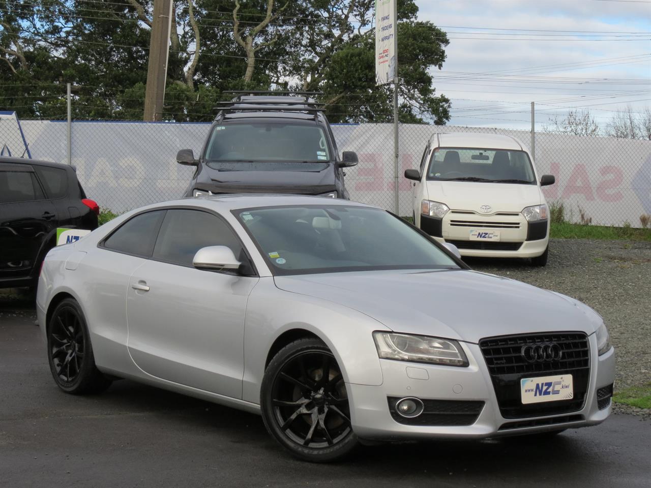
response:
[[[342,168],[357,155],[337,144],[312,92],[230,92],[221,102],[199,159],[191,149],[176,161],[196,166],[186,197],[219,193],[298,193],[348,198]],[[271,95],[275,93],[276,95]],[[281,93],[281,95],[278,95]]]

